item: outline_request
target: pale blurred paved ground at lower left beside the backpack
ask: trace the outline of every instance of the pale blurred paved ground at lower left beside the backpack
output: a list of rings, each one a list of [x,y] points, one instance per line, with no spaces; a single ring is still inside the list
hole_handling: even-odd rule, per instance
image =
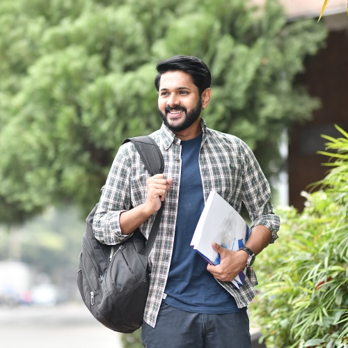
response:
[[[121,348],[83,305],[0,307],[0,348]]]

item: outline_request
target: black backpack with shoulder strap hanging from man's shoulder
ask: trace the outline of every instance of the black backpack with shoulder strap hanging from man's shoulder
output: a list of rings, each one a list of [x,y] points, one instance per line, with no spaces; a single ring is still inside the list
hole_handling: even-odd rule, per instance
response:
[[[163,173],[164,159],[153,139],[139,136],[123,143],[128,141],[134,143],[150,175]],[[148,256],[155,244],[162,209],[163,205],[147,242],[136,229],[125,242],[102,244],[95,239],[92,228],[97,205],[86,219],[77,286],[90,313],[113,331],[132,333],[143,324],[150,282]]]

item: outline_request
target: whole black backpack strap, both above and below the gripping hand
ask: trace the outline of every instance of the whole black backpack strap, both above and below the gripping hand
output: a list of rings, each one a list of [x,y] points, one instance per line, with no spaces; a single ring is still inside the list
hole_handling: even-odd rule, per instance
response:
[[[137,136],[136,138],[127,138],[122,144],[131,141],[136,150],[139,152],[141,160],[150,173],[151,176],[156,174],[161,174],[164,171],[164,158],[159,150],[157,143],[150,138],[150,136]],[[152,225],[150,235],[148,237],[148,242],[145,246],[145,255],[148,257],[151,253],[152,247],[155,244],[157,237],[157,232],[159,229],[159,223],[161,222],[161,216],[163,211],[163,203],[156,214],[155,221]]]

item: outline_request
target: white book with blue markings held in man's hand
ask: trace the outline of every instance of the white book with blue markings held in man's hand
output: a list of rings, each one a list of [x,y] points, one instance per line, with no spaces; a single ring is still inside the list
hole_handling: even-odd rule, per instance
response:
[[[223,248],[238,251],[246,244],[250,229],[242,216],[232,208],[218,193],[211,191],[196,230],[191,246],[209,264],[220,264],[220,255],[212,248],[212,242]],[[232,284],[239,289],[244,284],[245,271],[240,271]]]

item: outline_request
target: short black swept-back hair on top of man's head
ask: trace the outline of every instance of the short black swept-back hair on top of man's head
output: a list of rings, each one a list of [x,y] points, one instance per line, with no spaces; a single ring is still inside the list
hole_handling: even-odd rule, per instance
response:
[[[183,71],[191,75],[193,84],[198,87],[198,92],[202,95],[203,90],[210,87],[212,77],[209,68],[200,58],[194,56],[173,56],[157,64],[158,74],[155,77],[155,87],[159,90],[159,80],[161,74],[168,71]]]

